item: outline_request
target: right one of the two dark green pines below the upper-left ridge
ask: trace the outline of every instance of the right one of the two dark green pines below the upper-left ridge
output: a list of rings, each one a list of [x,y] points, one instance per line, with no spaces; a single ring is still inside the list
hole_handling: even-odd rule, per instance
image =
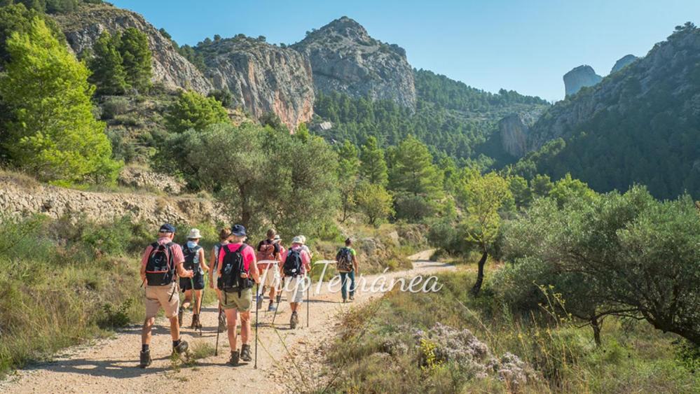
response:
[[[118,38],[127,82],[139,92],[151,86],[151,50],[146,34],[129,27]]]

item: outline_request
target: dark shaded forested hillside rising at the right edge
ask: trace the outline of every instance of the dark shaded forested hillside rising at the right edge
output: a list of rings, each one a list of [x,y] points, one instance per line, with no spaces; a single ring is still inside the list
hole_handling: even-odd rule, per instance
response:
[[[596,190],[643,183],[657,197],[700,195],[700,29],[675,32],[643,58],[549,108],[528,149],[566,146],[537,171],[572,176]]]

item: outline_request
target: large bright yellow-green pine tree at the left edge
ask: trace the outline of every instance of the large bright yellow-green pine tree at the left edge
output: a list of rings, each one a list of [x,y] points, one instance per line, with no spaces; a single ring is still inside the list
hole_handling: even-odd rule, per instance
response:
[[[7,41],[11,62],[0,78],[0,97],[11,113],[5,143],[11,160],[43,181],[114,180],[104,123],[92,115],[90,71],[39,17],[27,33]],[[10,142],[11,141],[11,142]]]

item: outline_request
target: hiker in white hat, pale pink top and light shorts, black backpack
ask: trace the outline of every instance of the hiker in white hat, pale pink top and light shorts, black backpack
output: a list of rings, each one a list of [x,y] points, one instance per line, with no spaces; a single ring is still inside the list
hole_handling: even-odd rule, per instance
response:
[[[282,255],[284,265],[282,265],[281,271],[284,276],[284,293],[291,309],[289,327],[292,329],[296,328],[299,323],[297,311],[299,304],[304,299],[305,274],[311,272],[311,257],[303,250],[302,246],[303,239],[294,237],[291,240],[291,247]]]

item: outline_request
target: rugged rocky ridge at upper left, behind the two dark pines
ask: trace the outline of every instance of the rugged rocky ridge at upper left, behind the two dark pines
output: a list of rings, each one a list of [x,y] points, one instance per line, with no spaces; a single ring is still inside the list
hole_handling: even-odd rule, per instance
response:
[[[154,83],[163,83],[170,89],[187,88],[207,94],[212,83],[193,64],[182,57],[158,29],[146,22],[142,15],[130,10],[100,5],[85,5],[76,13],[55,15],[71,48],[80,54],[92,48],[103,31],[121,31],[135,27],[144,31],[149,38],[149,48],[153,53]]]

